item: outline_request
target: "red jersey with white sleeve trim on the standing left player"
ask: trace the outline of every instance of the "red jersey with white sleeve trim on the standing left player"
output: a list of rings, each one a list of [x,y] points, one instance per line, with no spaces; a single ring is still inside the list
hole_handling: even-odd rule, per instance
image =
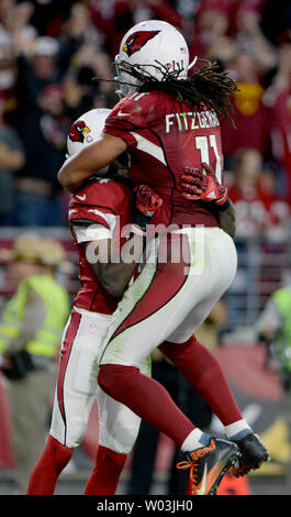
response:
[[[133,220],[131,190],[119,182],[94,179],[72,196],[68,217],[78,249],[81,284],[74,305],[94,312],[112,314],[119,299],[103,288],[88,261],[83,243],[113,239],[120,250],[125,242],[122,230]]]

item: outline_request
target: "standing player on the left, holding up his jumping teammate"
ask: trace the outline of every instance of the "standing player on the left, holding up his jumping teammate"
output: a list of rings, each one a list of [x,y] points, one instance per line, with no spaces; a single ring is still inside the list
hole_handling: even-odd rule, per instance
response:
[[[105,109],[91,110],[71,125],[69,155],[98,140],[109,112]],[[139,195],[137,204],[143,209],[144,200]],[[49,437],[31,475],[27,495],[54,493],[60,472],[69,462],[74,448],[82,440],[94,400],[99,410],[99,448],[96,468],[85,493],[110,495],[115,493],[141,419],[98,387],[96,359],[98,348],[107,337],[119,296],[130,280],[135,264],[126,266],[121,285],[120,264],[114,264],[119,273],[115,278],[103,261],[99,265],[101,283],[88,261],[88,246],[93,242],[96,252],[97,243],[105,242],[108,251],[108,242],[113,242],[111,251],[119,253],[119,246],[126,237],[121,237],[122,230],[133,219],[132,193],[121,182],[93,178],[71,197],[68,218],[78,250],[81,286],[64,331]],[[150,375],[150,359],[145,360],[142,370]]]

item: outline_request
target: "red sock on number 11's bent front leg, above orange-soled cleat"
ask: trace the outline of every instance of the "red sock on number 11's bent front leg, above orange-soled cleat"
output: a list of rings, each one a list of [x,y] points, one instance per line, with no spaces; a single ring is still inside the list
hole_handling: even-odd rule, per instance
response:
[[[98,382],[111,397],[130,407],[149,426],[181,446],[194,429],[161,384],[134,366],[103,364]]]

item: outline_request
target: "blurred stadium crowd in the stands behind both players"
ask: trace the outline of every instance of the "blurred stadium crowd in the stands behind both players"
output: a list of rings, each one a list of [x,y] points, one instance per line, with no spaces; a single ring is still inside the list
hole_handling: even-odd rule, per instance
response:
[[[289,235],[291,3],[288,0],[0,0],[0,226],[66,226],[56,180],[72,120],[113,107],[112,59],[134,23],[160,19],[191,58],[239,88],[222,123],[237,235]],[[101,80],[107,79],[107,80]]]

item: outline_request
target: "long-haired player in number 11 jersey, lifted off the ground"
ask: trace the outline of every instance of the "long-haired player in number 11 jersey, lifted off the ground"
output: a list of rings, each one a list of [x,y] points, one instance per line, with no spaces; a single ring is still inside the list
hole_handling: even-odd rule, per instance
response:
[[[160,21],[142,22],[128,31],[115,64],[125,97],[107,119],[103,139],[68,161],[59,180],[74,190],[127,151],[131,179],[154,187],[163,205],[150,220],[144,268],[119,304],[100,349],[98,378],[108,394],[187,454],[179,465],[190,468],[187,492],[212,494],[239,453],[236,474],[258,468],[269,459],[268,451],[237,409],[228,409],[222,419],[228,440],[203,433],[159,383],[141,373],[141,364],[159,345],[194,387],[194,329],[234,279],[236,250],[217,216],[217,208],[228,210],[230,201],[219,206],[220,197],[208,186],[200,189],[203,201],[193,201],[189,191],[187,198],[182,175],[191,176],[206,163],[214,170],[214,184],[223,183],[219,118],[230,117],[228,96],[235,85],[213,64],[194,68],[188,77],[184,38]],[[203,381],[222,397],[213,372],[206,363],[204,367]]]

